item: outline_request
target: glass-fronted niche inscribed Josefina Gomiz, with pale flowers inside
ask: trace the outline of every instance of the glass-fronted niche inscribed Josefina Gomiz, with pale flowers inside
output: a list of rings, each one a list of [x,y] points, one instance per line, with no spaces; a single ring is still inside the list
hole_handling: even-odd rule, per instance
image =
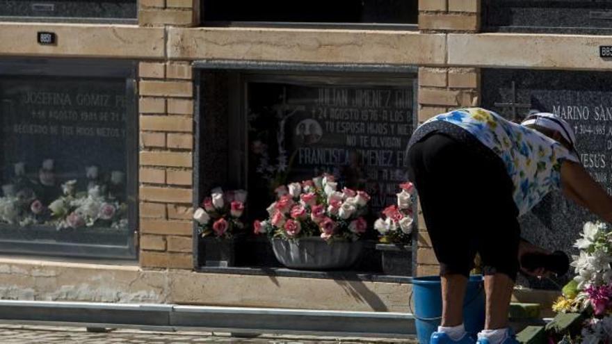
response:
[[[0,252],[134,258],[132,63],[0,61]]]

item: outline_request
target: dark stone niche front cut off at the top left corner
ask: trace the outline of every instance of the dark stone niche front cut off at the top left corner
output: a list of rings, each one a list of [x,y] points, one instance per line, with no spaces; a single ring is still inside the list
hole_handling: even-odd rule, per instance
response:
[[[0,20],[136,23],[136,0],[0,0]]]

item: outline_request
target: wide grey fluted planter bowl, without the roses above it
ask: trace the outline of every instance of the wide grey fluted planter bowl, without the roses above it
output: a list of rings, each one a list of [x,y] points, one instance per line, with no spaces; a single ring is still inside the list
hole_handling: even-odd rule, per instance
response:
[[[276,259],[296,270],[339,270],[350,268],[363,249],[360,240],[328,243],[319,237],[296,240],[272,239]]]

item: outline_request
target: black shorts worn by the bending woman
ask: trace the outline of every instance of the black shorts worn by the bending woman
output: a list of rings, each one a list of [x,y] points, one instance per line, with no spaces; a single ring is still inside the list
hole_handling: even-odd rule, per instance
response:
[[[478,252],[485,275],[515,280],[520,227],[501,159],[483,158],[473,145],[430,133],[410,147],[408,162],[440,275],[468,276]]]

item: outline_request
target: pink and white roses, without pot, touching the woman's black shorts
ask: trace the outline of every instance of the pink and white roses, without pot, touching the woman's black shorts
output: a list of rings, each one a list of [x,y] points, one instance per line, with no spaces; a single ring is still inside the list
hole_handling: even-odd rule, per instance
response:
[[[387,206],[382,212],[383,216],[374,222],[381,243],[408,244],[411,241],[414,185],[406,182],[399,187],[401,192],[397,194],[397,204]]]

